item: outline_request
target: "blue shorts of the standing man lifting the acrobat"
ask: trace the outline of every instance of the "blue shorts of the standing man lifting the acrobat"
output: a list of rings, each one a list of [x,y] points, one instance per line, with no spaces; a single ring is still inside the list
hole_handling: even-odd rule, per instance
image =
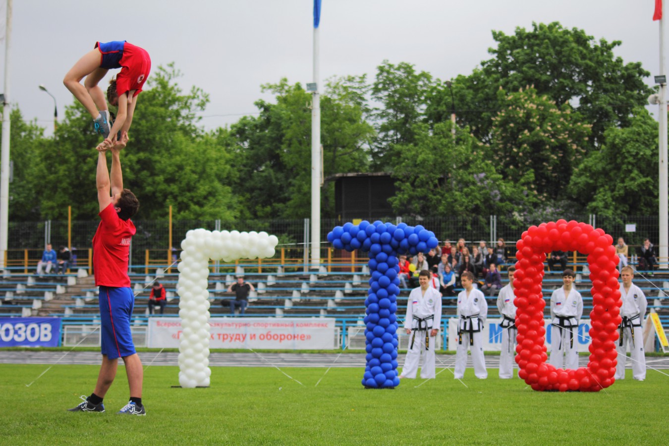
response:
[[[102,322],[102,354],[109,359],[135,354],[130,332],[134,307],[132,288],[100,287],[100,322]]]

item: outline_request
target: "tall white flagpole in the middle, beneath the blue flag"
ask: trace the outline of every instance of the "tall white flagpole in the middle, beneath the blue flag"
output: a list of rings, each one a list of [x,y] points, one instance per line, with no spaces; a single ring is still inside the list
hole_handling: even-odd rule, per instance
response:
[[[320,25],[319,25],[320,27]],[[311,267],[320,265],[320,78],[318,74],[318,27],[314,27],[314,84],[311,109]]]

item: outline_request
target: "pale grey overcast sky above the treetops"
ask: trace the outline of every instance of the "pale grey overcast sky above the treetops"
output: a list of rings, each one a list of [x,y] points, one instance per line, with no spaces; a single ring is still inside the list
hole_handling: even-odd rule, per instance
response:
[[[5,1],[0,0],[1,17]],[[325,80],[367,73],[373,80],[387,59],[446,80],[469,74],[490,58],[492,29],[512,34],[533,21],[559,21],[595,39],[620,40],[616,55],[642,62],[654,75],[660,66],[654,3],[322,0],[320,75]],[[62,119],[74,100],[62,84],[66,72],[96,41],[127,40],[149,51],[154,68],[175,62],[183,90],[195,85],[210,94],[201,124],[224,126],[256,112],[254,101],[269,98],[261,94],[261,84],[282,77],[312,82],[312,5],[312,0],[13,0],[11,102],[52,134],[54,102],[39,84],[56,96]],[[4,25],[0,31],[4,35]],[[4,39],[0,60],[1,92]],[[652,85],[652,78],[647,82]]]

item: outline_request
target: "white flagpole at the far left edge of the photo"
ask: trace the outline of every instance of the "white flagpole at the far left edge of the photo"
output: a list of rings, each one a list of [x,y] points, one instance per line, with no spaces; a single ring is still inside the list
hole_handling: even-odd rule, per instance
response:
[[[0,269],[5,268],[5,252],[9,229],[9,50],[11,49],[11,2],[7,0],[7,23],[5,23],[5,101],[2,111],[2,148],[0,154]]]

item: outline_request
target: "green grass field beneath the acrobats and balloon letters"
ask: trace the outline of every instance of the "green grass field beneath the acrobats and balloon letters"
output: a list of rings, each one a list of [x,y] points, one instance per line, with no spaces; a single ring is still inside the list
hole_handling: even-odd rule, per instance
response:
[[[178,368],[145,372],[146,417],[116,415],[128,401],[125,370],[105,413],[70,413],[92,391],[97,366],[0,364],[3,444],[667,444],[669,377],[648,370],[599,393],[540,393],[468,369],[435,380],[365,390],[362,368],[213,367],[210,388],[171,388]],[[438,368],[438,372],[441,370]],[[628,370],[631,374],[631,370]],[[316,382],[322,378],[318,386]],[[418,386],[418,384],[421,384]],[[417,386],[417,387],[416,387]]]

